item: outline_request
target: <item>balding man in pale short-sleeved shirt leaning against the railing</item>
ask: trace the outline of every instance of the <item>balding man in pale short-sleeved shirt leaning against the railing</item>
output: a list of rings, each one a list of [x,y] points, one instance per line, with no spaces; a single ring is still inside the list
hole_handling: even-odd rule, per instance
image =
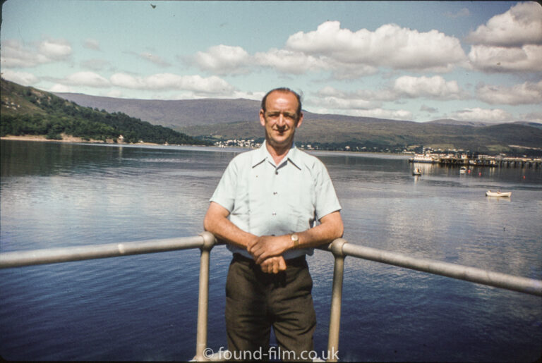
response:
[[[260,349],[263,359],[272,359],[265,356],[271,326],[280,349],[299,359],[313,350],[316,326],[305,255],[342,237],[341,207],[323,163],[294,145],[303,123],[299,94],[288,88],[268,92],[260,123],[264,144],[230,162],[204,226],[234,253],[226,284],[234,359],[249,359],[243,352]]]

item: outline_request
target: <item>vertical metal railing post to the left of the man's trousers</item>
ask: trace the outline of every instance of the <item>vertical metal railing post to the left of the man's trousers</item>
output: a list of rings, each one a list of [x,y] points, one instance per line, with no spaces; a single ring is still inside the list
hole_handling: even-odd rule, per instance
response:
[[[207,315],[209,313],[209,262],[210,252],[215,245],[215,236],[209,232],[200,234],[203,237],[200,258],[200,290],[198,293],[198,331],[195,340],[196,361],[208,360],[204,352],[207,347]]]

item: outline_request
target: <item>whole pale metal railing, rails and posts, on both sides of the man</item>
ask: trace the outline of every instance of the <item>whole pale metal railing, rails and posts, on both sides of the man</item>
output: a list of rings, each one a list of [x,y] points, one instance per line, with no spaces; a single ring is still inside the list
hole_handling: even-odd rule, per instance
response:
[[[168,238],[141,242],[111,243],[107,245],[86,245],[81,247],[64,247],[47,250],[5,252],[0,254],[0,269],[199,248],[201,250],[201,256],[198,293],[198,325],[194,359],[201,361],[208,360],[207,357],[205,357],[204,352],[207,347],[209,262],[210,251],[216,244],[215,236],[211,233],[204,232],[198,236],[188,238]],[[333,355],[330,354],[330,352],[338,352],[339,350],[342,281],[344,276],[344,258],[347,256],[401,266],[407,269],[433,273],[459,280],[481,283],[483,285],[504,288],[519,293],[542,296],[541,280],[512,276],[505,273],[476,269],[474,267],[439,262],[431,259],[410,257],[405,254],[354,245],[342,238],[333,241],[329,245],[320,247],[320,250],[328,250],[332,252],[335,257],[330,308],[330,330],[328,332],[329,338],[327,341],[327,357],[330,357],[331,359]]]

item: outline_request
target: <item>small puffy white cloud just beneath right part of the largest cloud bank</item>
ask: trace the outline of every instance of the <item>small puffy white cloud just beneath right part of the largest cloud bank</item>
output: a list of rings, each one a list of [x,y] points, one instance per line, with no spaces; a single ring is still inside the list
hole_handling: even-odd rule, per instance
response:
[[[459,99],[462,97],[462,90],[457,81],[446,81],[440,75],[430,78],[404,75],[395,80],[393,90],[397,94],[409,98]]]

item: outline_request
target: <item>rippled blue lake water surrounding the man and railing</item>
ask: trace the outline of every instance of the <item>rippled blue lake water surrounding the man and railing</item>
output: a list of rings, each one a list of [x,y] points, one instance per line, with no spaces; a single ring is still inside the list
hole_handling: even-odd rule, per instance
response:
[[[239,149],[1,141],[0,252],[197,235]],[[416,165],[315,153],[356,244],[542,279],[541,168]],[[510,190],[511,199],[485,197]],[[226,346],[231,254],[211,253],[208,346]],[[333,258],[308,258],[327,347]],[[0,355],[22,360],[186,360],[195,354],[199,251],[0,271]],[[343,361],[531,362],[542,299],[347,257]]]

